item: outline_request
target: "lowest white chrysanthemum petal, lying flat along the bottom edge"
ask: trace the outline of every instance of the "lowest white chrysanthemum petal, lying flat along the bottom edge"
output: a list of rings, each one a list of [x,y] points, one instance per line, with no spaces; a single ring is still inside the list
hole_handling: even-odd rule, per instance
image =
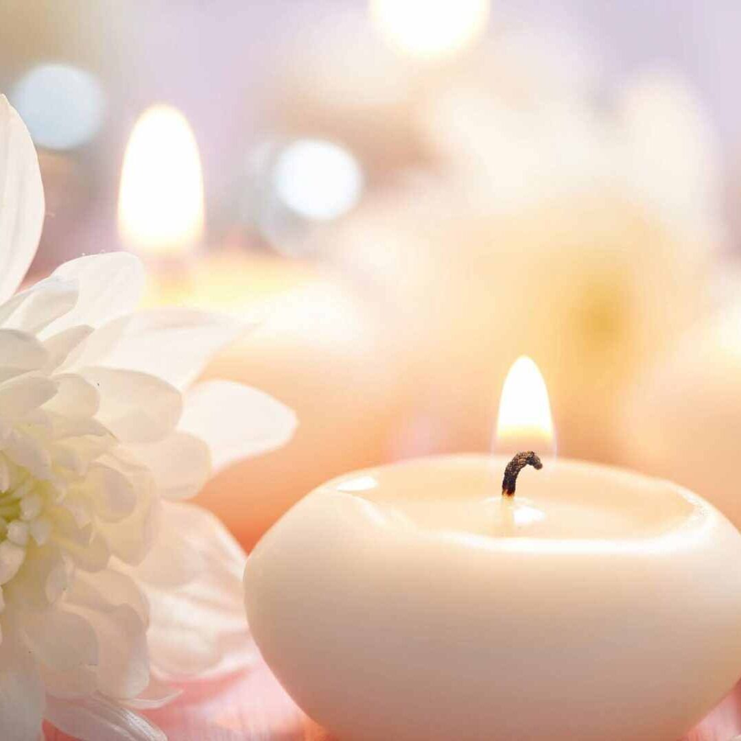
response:
[[[81,741],[167,741],[165,734],[141,715],[103,697],[49,697],[46,717],[60,731]]]

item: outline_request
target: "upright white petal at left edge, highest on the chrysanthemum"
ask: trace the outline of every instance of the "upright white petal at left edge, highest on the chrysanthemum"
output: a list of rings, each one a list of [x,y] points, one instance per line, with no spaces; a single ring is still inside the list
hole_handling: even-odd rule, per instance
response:
[[[20,116],[0,96],[0,302],[26,274],[43,223],[39,158]]]

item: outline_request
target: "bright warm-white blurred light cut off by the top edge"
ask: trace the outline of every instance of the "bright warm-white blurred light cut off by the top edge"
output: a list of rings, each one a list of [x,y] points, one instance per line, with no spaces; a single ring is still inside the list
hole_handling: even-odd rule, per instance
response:
[[[371,0],[371,16],[388,41],[412,56],[454,54],[482,35],[489,0]]]

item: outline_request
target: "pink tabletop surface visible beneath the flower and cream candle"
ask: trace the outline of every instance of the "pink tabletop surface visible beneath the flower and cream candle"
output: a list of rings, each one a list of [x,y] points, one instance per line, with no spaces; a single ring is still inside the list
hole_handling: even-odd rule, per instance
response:
[[[149,717],[170,741],[334,741],[293,704],[260,661],[239,677],[198,685]],[[730,741],[741,734],[741,682],[681,741]],[[47,728],[47,741],[68,737]]]

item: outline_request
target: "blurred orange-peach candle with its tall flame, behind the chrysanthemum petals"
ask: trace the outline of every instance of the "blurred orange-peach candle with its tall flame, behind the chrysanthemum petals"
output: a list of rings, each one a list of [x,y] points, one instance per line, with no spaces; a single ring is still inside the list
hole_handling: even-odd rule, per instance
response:
[[[147,304],[261,320],[206,375],[255,385],[299,416],[286,448],[225,471],[199,497],[249,548],[310,488],[385,456],[400,374],[383,330],[388,317],[372,293],[307,260],[199,250],[203,213],[190,125],[177,110],[154,106],[134,127],[119,201],[124,244],[150,262]]]

